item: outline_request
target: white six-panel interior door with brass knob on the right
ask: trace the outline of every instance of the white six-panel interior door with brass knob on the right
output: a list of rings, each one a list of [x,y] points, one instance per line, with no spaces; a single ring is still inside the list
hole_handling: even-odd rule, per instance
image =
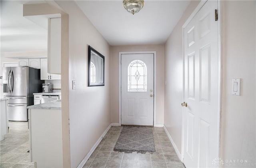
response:
[[[216,167],[218,157],[217,1],[207,1],[184,28],[184,164]]]

